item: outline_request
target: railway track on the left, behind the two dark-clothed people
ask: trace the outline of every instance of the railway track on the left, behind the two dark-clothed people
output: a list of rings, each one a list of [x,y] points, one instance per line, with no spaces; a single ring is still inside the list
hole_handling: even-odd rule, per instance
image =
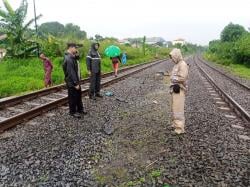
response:
[[[123,68],[119,71],[118,77],[113,77],[112,72],[104,74],[101,86],[106,87],[164,61],[159,60]],[[81,87],[82,95],[87,95],[89,92],[89,79],[83,79]],[[67,102],[68,96],[65,84],[2,100],[0,101],[0,133],[49,110],[60,107]]]

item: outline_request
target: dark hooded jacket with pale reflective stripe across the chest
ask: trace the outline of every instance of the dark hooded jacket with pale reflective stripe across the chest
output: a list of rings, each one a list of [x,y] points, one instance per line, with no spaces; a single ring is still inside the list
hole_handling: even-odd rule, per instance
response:
[[[95,45],[99,43],[93,43],[89,53],[86,57],[87,69],[93,73],[101,72],[101,56],[95,49]]]

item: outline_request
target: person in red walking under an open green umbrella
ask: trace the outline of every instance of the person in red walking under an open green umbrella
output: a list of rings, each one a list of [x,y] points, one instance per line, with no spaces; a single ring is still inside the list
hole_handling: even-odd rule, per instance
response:
[[[105,54],[112,60],[115,77],[117,77],[119,62],[121,62],[120,48],[115,45],[111,45],[107,49],[105,49]]]

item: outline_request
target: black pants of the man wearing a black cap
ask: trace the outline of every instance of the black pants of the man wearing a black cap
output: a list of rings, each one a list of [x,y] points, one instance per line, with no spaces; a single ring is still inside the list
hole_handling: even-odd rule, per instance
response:
[[[81,89],[77,90],[75,87],[68,87],[68,96],[69,96],[69,112],[74,114],[76,112],[83,111],[82,104],[82,93]]]

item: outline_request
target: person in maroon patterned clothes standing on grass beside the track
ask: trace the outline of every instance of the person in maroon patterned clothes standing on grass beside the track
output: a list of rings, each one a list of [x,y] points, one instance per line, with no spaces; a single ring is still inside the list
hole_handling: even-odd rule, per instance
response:
[[[40,59],[43,61],[43,67],[45,72],[44,85],[46,88],[48,88],[52,86],[51,72],[53,70],[53,65],[44,53],[40,54]]]

